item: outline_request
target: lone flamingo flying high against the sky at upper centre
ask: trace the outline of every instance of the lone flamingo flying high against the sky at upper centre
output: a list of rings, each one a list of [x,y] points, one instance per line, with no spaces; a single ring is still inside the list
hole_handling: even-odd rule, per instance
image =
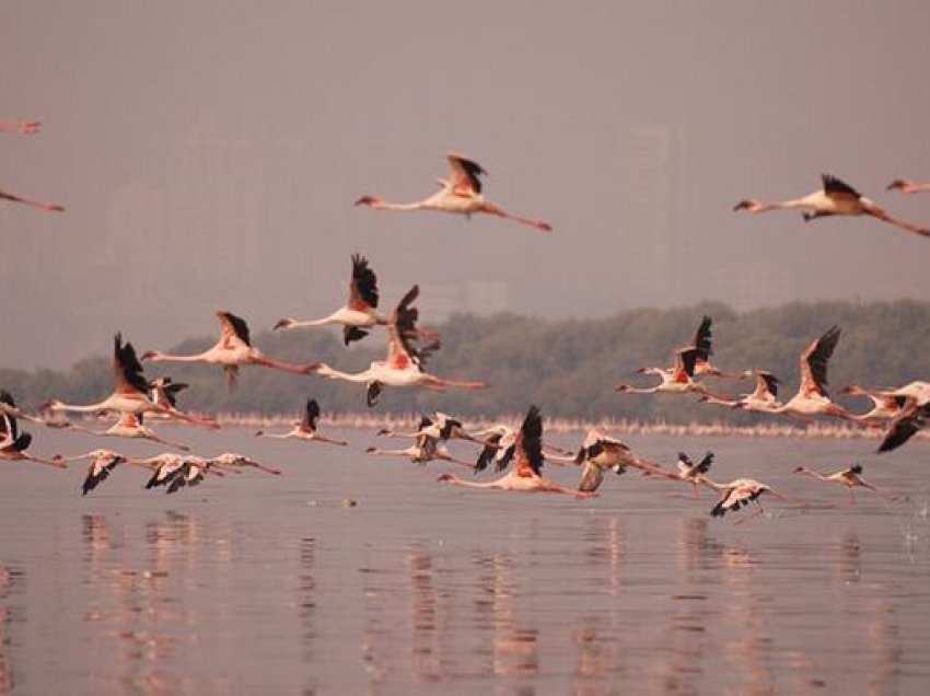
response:
[[[484,167],[461,154],[447,154],[450,178],[439,179],[439,193],[410,204],[387,202],[376,196],[362,196],[356,201],[357,206],[369,206],[375,210],[441,210],[455,212],[466,217],[475,212],[484,212],[508,220],[514,220],[540,232],[550,232],[553,225],[542,220],[515,216],[503,210],[497,204],[485,200],[481,195],[481,175],[487,172]]]

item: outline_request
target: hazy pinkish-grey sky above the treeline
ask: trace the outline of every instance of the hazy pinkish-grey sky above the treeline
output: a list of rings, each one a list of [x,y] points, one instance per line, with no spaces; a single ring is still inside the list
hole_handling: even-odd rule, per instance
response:
[[[930,241],[877,221],[734,213],[830,172],[930,223],[930,3],[5,0],[0,366],[63,367],[257,332],[345,299],[549,317],[710,299],[930,297]],[[458,151],[549,220],[354,208],[414,200]],[[828,320],[827,320],[828,321]]]

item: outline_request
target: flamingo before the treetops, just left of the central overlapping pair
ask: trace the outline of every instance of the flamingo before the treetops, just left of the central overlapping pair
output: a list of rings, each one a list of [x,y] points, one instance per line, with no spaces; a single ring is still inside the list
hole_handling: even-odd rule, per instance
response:
[[[217,344],[195,356],[172,356],[159,350],[150,350],[142,355],[142,360],[152,362],[207,362],[209,364],[222,366],[226,372],[230,390],[239,380],[241,366],[258,364],[276,370],[284,370],[295,374],[311,374],[318,368],[318,363],[293,364],[281,360],[272,360],[255,348],[249,339],[248,325],[244,320],[231,312],[219,311],[217,318],[220,320],[220,340]]]

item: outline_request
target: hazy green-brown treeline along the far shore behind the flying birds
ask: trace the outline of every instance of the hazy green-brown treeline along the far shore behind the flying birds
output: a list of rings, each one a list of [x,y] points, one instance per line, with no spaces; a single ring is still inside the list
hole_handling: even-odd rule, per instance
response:
[[[842,337],[829,364],[832,394],[857,383],[898,385],[930,379],[930,302],[817,302],[737,313],[720,303],[673,310],[633,310],[596,320],[544,321],[515,314],[478,317],[452,316],[431,326],[442,334],[442,349],[429,361],[435,374],[483,380],[481,392],[434,394],[421,390],[385,390],[379,411],[445,410],[463,416],[513,414],[531,403],[548,416],[568,418],[629,418],[647,421],[746,422],[751,416],[697,404],[696,396],[621,395],[621,383],[652,384],[656,378],[638,375],[643,366],[671,364],[672,350],[691,340],[704,314],[713,318],[713,362],[731,372],[759,368],[782,381],[779,397],[798,387],[800,352],[834,324]],[[428,325],[428,322],[423,322]],[[254,343],[269,356],[325,361],[337,369],[363,370],[384,357],[381,329],[352,349],[342,347],[335,329],[305,329],[286,334],[260,333]],[[128,337],[131,339],[131,337]],[[191,338],[172,352],[196,352],[212,345],[214,336]],[[111,345],[109,337],[102,344]],[[149,346],[137,346],[139,352]],[[300,378],[264,368],[242,370],[239,387],[230,393],[218,367],[154,363],[154,378],[170,374],[187,382],[181,405],[209,413],[281,414],[299,411],[307,396],[319,399],[324,411],[363,411],[362,385],[316,376]],[[753,382],[709,380],[718,391],[745,393]],[[111,393],[109,356],[82,360],[67,371],[0,369],[0,387],[11,391],[26,408],[57,397],[90,403]],[[839,398],[856,411],[868,404]]]

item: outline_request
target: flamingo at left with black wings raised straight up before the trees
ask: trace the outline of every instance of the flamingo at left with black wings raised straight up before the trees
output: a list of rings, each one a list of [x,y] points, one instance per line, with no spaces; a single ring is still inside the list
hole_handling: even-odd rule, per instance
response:
[[[113,339],[113,375],[116,387],[109,396],[96,404],[65,404],[58,399],[47,402],[42,406],[43,411],[77,411],[77,413],[100,413],[100,411],[118,411],[120,414],[144,414],[144,413],[170,413],[171,415],[196,425],[208,425],[216,427],[214,424],[206,424],[205,421],[194,418],[178,411],[172,410],[165,406],[155,404],[149,398],[149,382],[142,376],[142,366],[136,357],[136,349],[132,344],[123,344],[123,335],[116,334]]]

